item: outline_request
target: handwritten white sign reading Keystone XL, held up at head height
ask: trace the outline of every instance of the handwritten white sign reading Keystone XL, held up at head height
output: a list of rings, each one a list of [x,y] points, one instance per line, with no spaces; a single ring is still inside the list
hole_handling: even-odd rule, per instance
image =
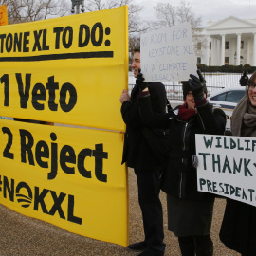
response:
[[[188,80],[196,74],[190,23],[145,33],[140,38],[141,72],[147,82]]]

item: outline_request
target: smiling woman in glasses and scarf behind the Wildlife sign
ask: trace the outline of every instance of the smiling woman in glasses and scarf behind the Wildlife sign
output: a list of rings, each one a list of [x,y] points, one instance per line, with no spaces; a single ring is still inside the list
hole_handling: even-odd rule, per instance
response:
[[[231,118],[233,136],[256,137],[256,72],[247,82],[247,93]],[[256,255],[256,207],[227,199],[220,230],[221,241],[243,256]]]

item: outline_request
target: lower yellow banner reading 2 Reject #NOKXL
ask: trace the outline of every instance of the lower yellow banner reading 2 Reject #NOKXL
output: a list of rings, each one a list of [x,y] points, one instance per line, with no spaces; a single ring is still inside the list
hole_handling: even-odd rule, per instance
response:
[[[120,133],[0,119],[0,203],[63,229],[128,243]]]

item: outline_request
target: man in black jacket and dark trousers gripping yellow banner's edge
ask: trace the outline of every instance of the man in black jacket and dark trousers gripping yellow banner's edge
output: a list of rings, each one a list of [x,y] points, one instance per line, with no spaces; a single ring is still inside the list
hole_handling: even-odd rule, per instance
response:
[[[133,64],[134,76],[140,70],[140,50],[134,50]],[[152,106],[155,113],[166,112],[166,91],[161,82],[149,82],[149,90],[152,95]],[[132,250],[142,250],[138,255],[161,256],[164,255],[163,243],[163,212],[159,199],[161,160],[149,147],[149,140],[143,127],[137,96],[139,87],[136,84],[131,97],[126,90],[122,91],[120,101],[122,119],[126,124],[122,163],[135,169],[137,175],[138,202],[142,211],[145,239],[142,242],[129,245]],[[151,131],[149,131],[151,132]]]

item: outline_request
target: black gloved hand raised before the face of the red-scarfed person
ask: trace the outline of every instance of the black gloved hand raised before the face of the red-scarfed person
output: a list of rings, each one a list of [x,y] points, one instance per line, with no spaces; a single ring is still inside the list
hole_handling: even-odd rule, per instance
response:
[[[200,70],[197,70],[196,72],[199,76],[199,79],[191,74],[190,75],[191,79],[189,79],[189,83],[190,83],[190,87],[192,88],[194,101],[199,101],[205,98],[204,89],[206,88],[206,81],[203,75],[201,74]]]

